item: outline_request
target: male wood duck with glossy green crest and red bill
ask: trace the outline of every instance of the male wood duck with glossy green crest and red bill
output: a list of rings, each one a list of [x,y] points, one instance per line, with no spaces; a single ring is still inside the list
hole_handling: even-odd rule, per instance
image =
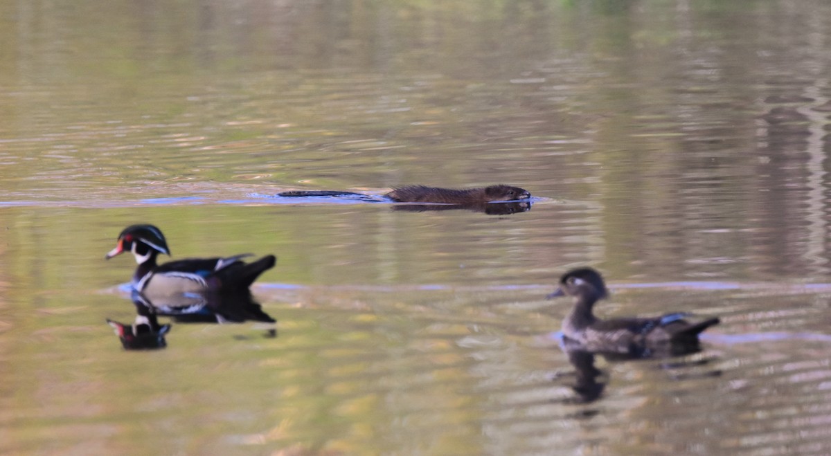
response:
[[[159,253],[170,255],[165,236],[153,225],[132,225],[124,229],[116,241],[116,248],[106,259],[130,252],[139,267],[133,274],[132,285],[147,297],[164,297],[182,293],[238,292],[248,287],[277,261],[266,255],[255,262],[241,261],[251,253],[226,258],[187,258],[156,265]]]

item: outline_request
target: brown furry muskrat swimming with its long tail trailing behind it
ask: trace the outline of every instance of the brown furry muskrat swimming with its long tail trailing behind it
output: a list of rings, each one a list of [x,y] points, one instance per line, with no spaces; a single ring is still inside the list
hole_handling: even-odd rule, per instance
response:
[[[278,196],[363,196],[371,198],[370,195],[366,194],[356,194],[353,192],[340,192],[334,190],[291,190],[279,193]],[[501,184],[489,185],[488,187],[476,187],[474,189],[441,189],[439,187],[427,187],[425,185],[409,185],[399,189],[394,189],[384,196],[396,203],[444,203],[465,205],[531,198],[531,194],[526,189]],[[372,201],[376,201],[376,199],[372,199]]]

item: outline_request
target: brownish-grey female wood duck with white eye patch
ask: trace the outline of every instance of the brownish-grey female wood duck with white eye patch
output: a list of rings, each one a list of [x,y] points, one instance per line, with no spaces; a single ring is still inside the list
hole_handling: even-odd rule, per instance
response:
[[[563,336],[567,344],[586,351],[622,353],[645,357],[653,352],[676,354],[698,345],[701,331],[719,322],[718,318],[692,324],[683,319],[683,312],[652,318],[615,318],[600,320],[592,307],[607,297],[606,285],[600,274],[588,267],[574,269],[560,278],[560,287],[548,295],[576,297],[574,308],[563,320]]]

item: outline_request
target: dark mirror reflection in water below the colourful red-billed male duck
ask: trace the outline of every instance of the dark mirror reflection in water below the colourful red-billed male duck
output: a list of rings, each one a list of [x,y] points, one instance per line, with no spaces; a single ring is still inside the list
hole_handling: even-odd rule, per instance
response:
[[[130,293],[130,299],[136,312],[132,325],[107,319],[125,350],[165,348],[165,335],[170,332],[171,326],[160,325],[159,316],[168,316],[177,323],[276,322],[254,301],[248,290],[233,293],[188,293],[152,299],[134,290]],[[276,337],[277,330],[269,329],[265,336]]]

